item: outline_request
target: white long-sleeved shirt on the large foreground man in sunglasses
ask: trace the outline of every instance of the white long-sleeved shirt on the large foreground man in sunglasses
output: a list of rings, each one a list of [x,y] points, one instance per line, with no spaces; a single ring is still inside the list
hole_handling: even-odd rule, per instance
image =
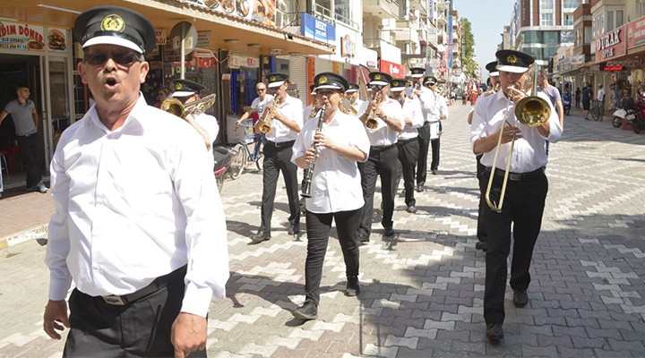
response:
[[[131,294],[187,264],[182,310],[206,316],[225,294],[224,210],[202,137],[140,94],[114,132],[96,107],[68,127],[51,162],[49,299],[71,281],[91,296]]]

